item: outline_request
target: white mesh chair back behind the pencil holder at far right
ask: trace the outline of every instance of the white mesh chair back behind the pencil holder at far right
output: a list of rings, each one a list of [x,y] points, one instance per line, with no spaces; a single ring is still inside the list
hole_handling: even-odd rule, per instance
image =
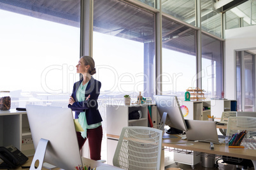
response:
[[[229,117],[227,122],[227,136],[229,139],[232,134],[247,131],[241,145],[245,148],[256,148],[256,117]]]

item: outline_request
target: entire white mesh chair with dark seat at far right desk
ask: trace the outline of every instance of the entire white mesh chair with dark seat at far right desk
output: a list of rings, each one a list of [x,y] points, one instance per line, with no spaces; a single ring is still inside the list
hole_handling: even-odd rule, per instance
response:
[[[246,149],[255,149],[256,146],[253,146],[253,143],[256,141],[256,117],[229,117],[229,121],[227,122],[227,136],[229,136],[229,139],[232,137],[232,134],[236,134],[244,130],[247,131],[247,133],[243,138],[241,145]],[[227,156],[222,156],[222,159],[227,164],[237,165],[237,169],[238,166],[243,166],[242,169],[253,167],[253,162],[249,159]]]

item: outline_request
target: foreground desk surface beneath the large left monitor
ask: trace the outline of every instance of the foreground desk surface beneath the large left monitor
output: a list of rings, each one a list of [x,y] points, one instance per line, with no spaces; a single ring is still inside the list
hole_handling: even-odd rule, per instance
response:
[[[31,162],[32,162],[33,157],[29,157],[29,160],[27,160],[27,162],[25,162],[24,165],[22,166],[31,166]],[[113,169],[113,170],[124,170],[121,169],[119,167],[115,167],[115,166],[111,166],[102,162],[98,162],[96,160],[92,160],[92,159],[87,159],[85,157],[82,157],[82,161],[86,162],[87,165],[90,165],[92,167],[97,167],[97,170],[108,170],[108,169]],[[22,167],[18,167],[17,169],[22,169]],[[46,168],[42,168],[43,170],[48,170]],[[55,168],[54,170],[59,170],[60,168]],[[22,169],[22,170],[27,170],[27,169]],[[66,169],[68,170],[68,169]]]

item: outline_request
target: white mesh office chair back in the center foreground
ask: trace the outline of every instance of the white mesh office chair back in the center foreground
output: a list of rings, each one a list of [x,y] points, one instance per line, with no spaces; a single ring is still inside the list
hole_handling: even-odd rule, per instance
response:
[[[128,170],[159,170],[162,131],[143,126],[122,129],[113,165]]]

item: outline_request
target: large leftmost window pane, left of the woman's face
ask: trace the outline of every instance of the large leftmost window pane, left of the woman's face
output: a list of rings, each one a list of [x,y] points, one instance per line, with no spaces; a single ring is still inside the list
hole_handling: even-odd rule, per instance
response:
[[[0,89],[11,91],[11,108],[68,107],[80,56],[80,1],[4,2]]]

